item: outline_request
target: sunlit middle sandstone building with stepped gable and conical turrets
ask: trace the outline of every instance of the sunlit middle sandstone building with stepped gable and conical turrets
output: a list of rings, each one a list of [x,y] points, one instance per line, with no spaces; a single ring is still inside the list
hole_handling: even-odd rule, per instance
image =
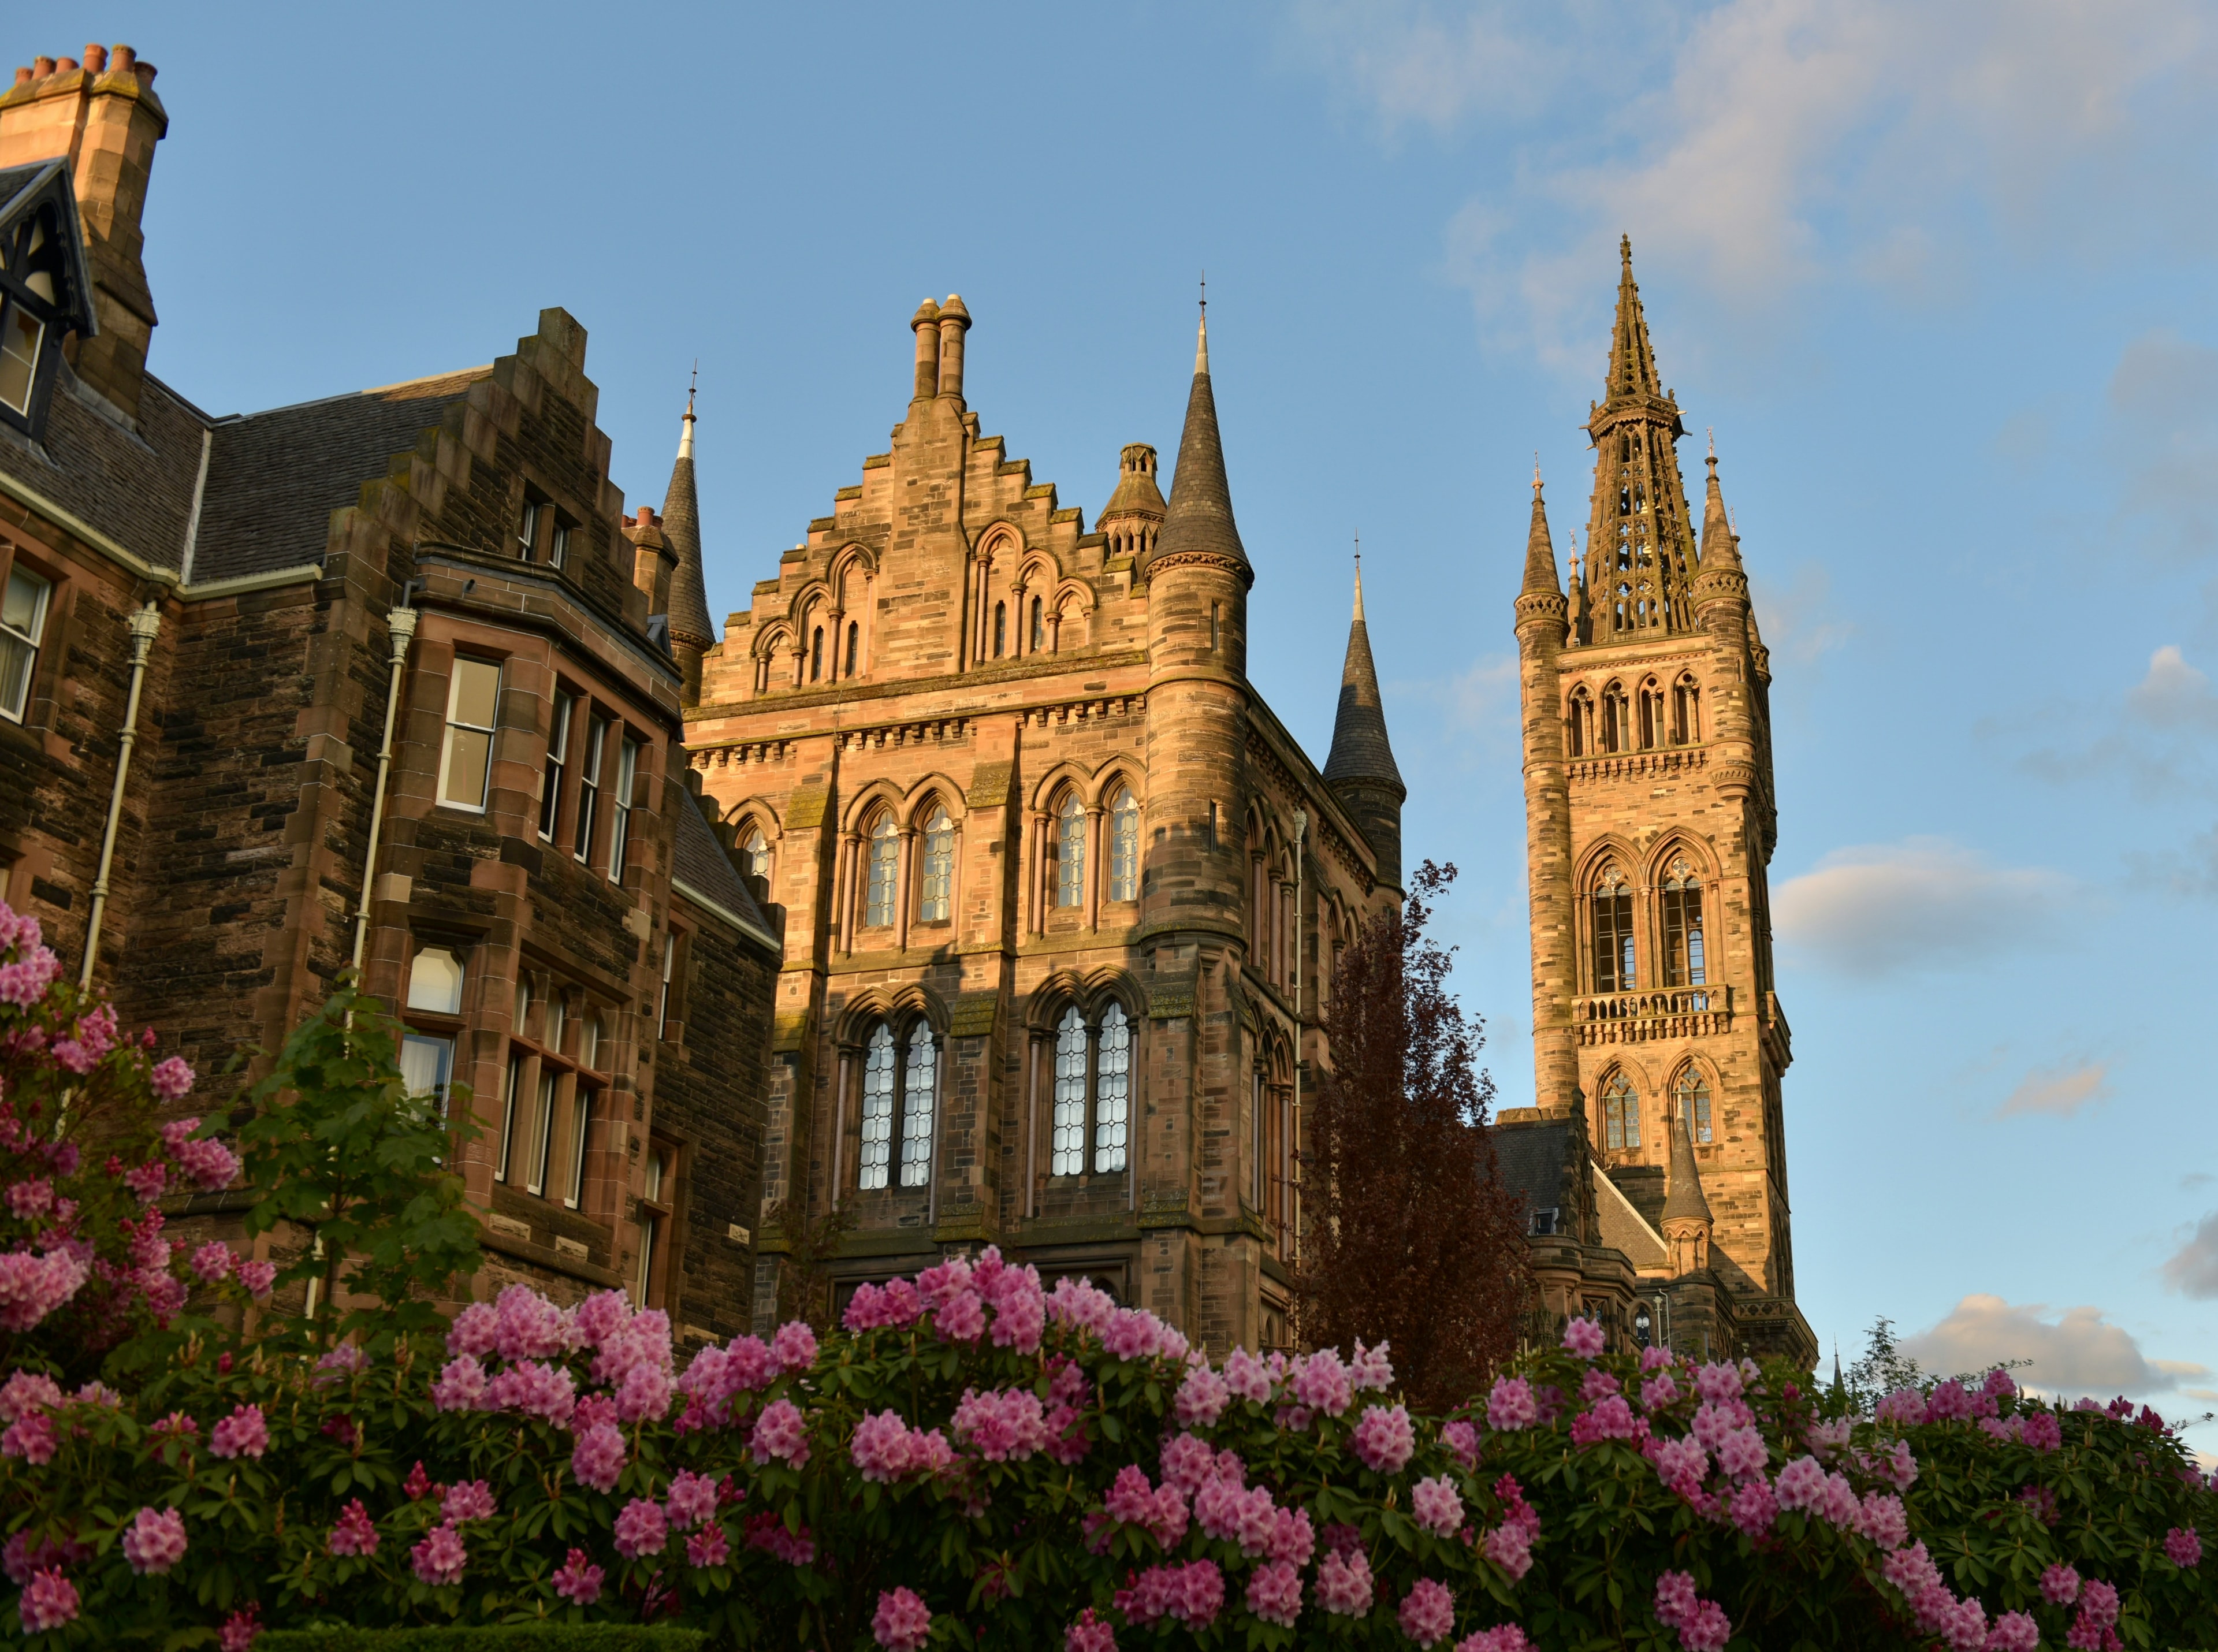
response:
[[[1247,679],[1207,324],[1169,501],[1131,443],[1091,530],[983,435],[963,302],[909,326],[892,446],[685,710],[785,914],[756,1322],[843,1211],[849,1291],[996,1242],[1213,1346],[1282,1344],[1300,1071],[1402,880],[1360,594],[1320,772]]]

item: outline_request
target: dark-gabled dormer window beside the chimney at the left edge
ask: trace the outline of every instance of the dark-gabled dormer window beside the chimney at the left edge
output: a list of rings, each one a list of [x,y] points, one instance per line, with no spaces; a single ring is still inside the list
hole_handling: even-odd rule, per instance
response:
[[[62,341],[98,330],[91,290],[69,162],[0,169],[0,424],[42,435]]]

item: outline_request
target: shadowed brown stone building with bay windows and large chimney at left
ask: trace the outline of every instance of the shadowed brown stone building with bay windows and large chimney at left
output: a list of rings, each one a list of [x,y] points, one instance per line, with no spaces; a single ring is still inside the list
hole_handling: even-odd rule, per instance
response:
[[[681,747],[692,408],[632,519],[563,310],[202,412],[146,370],[153,82],[87,47],[0,93],[0,894],[202,1073],[359,965],[484,1124],[481,1288],[743,1328],[779,940]]]

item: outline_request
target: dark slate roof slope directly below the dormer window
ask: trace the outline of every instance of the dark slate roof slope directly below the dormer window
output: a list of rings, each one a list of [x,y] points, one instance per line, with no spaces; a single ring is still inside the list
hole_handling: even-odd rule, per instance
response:
[[[104,406],[64,364],[40,441],[0,435],[0,472],[98,528],[140,561],[175,570],[184,561],[208,415],[151,373],[135,432]]]

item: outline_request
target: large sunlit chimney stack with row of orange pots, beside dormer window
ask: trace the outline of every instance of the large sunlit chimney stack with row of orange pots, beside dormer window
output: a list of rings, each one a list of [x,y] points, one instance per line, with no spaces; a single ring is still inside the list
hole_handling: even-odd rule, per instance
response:
[[[169,131],[153,75],[153,64],[140,62],[131,47],[91,44],[82,69],[71,58],[38,58],[0,93],[0,166],[69,160],[100,322],[98,337],[69,344],[69,361],[131,419],[155,326],[140,213],[153,146]]]

